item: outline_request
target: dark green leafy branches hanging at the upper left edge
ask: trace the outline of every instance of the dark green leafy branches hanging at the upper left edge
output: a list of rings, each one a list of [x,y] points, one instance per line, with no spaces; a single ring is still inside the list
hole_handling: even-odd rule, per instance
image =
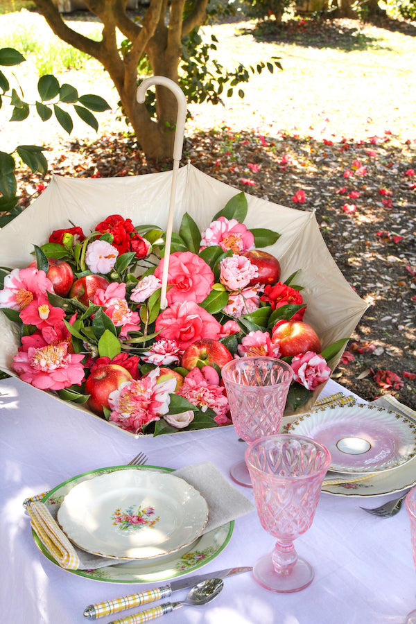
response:
[[[24,55],[14,48],[0,49],[0,67],[12,67],[25,60]],[[10,87],[7,76],[0,70],[0,107],[5,102],[12,106],[10,121],[24,121],[27,119],[31,107],[33,107],[42,121],[51,119],[51,116],[55,114],[58,123],[68,134],[73,128],[73,121],[69,112],[59,106],[58,103],[73,106],[73,110],[80,119],[94,130],[98,130],[98,121],[91,111],[102,112],[110,108],[100,96],[93,94],[78,96],[75,87],[66,83],[60,85],[58,79],[52,74],[41,76],[38,80],[37,92],[40,99],[34,104],[27,103],[22,99],[24,92],[19,83],[17,83],[17,88],[19,92],[16,88]],[[19,145],[12,153],[0,151],[0,227],[6,225],[21,212],[16,195],[16,161],[12,154],[16,153],[21,162],[26,164],[32,173],[38,171],[45,175],[48,163],[43,154],[44,150],[46,148],[35,145]]]

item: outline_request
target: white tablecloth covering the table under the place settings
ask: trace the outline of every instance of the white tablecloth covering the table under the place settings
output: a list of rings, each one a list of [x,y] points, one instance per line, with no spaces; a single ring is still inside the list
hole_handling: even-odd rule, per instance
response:
[[[338,390],[330,381],[322,396]],[[139,450],[152,465],[176,469],[210,460],[225,475],[243,454],[233,427],[137,440],[16,379],[0,382],[0,408],[0,595],[6,624],[86,623],[87,605],[155,586],[98,582],[55,566],[35,546],[21,504],[27,496],[85,471],[121,465]],[[250,489],[241,491],[252,498]],[[165,616],[166,623],[401,624],[416,607],[406,511],[379,519],[359,508],[389,497],[322,494],[313,526],[295,542],[315,568],[315,579],[303,591],[273,593],[245,573],[227,579],[210,605],[179,609]],[[228,546],[198,572],[252,565],[273,544],[252,512],[236,520]]]

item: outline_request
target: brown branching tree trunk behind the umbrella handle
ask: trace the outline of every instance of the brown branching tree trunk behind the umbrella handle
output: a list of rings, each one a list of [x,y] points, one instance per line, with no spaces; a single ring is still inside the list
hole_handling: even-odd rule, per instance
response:
[[[168,25],[165,24],[168,0],[150,0],[140,25],[125,12],[128,0],[85,0],[87,8],[103,22],[103,38],[99,42],[69,28],[53,0],[34,1],[55,35],[92,55],[107,70],[146,156],[152,159],[171,157],[177,117],[176,98],[165,87],[157,87],[157,121],[151,119],[146,106],[137,103],[137,65],[146,53],[155,76],[166,76],[177,83],[182,37],[205,21],[208,0],[196,0],[185,19],[185,0],[171,0]],[[125,55],[117,49],[116,28],[131,42]]]

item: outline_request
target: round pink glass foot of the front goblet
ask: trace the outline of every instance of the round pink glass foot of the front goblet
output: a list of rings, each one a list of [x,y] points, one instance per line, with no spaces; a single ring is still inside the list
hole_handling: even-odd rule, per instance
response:
[[[315,575],[311,564],[302,557],[297,557],[297,562],[289,574],[278,573],[273,566],[271,553],[264,555],[254,564],[253,574],[262,587],[280,593],[291,593],[308,587]]]

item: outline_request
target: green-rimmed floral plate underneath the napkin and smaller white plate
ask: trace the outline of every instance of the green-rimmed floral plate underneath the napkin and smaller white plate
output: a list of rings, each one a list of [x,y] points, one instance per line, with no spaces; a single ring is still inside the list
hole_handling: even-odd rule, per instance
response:
[[[64,481],[64,483],[52,489],[51,492],[48,492],[44,496],[43,502],[50,504],[62,503],[64,496],[78,483],[95,476],[126,469],[173,472],[173,469],[159,466],[114,466],[98,469]],[[150,560],[129,561],[95,570],[68,570],[68,572],[93,580],[114,583],[149,583],[176,578],[177,576],[195,571],[218,557],[229,543],[233,530],[234,521],[228,522],[204,535],[200,535],[192,544],[182,548],[179,552],[166,555],[166,557],[158,557],[157,562],[151,562]],[[35,544],[40,551],[51,562],[59,566],[58,562],[55,561],[37,537],[35,531],[32,531],[32,533]]]

